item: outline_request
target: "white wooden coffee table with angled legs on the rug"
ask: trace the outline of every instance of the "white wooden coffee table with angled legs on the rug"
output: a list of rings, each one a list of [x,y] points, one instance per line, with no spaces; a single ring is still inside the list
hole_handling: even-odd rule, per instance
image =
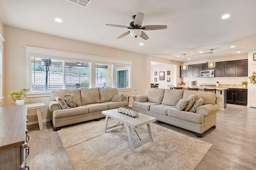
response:
[[[106,115],[104,132],[107,132],[108,129],[112,129],[114,127],[126,125],[128,139],[129,139],[130,148],[131,148],[132,152],[135,152],[135,150],[134,150],[135,147],[138,147],[139,145],[141,145],[143,143],[146,143],[148,141],[154,142],[153,135],[152,135],[151,128],[150,128],[150,123],[156,121],[155,117],[151,117],[151,116],[139,113],[139,116],[137,118],[133,118],[128,115],[118,113],[117,109],[102,111],[102,114]],[[111,117],[112,119],[120,121],[121,124],[118,124],[117,126],[108,127],[108,117]],[[149,137],[147,137],[137,143],[133,143],[132,135],[131,135],[131,128],[137,128],[137,127],[141,127],[143,125],[147,125]]]

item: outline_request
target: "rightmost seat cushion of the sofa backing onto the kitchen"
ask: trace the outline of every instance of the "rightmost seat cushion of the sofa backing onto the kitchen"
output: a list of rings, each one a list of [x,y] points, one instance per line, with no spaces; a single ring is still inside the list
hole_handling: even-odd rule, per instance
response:
[[[179,119],[192,121],[195,123],[204,123],[204,116],[197,113],[192,113],[189,111],[178,111],[175,108],[168,109],[167,114],[172,117],[177,117]]]

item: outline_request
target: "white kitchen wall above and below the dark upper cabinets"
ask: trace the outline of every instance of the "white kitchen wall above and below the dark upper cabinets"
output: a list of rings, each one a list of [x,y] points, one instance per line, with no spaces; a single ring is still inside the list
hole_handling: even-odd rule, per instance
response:
[[[220,57],[220,58],[214,58],[213,61],[215,62],[221,62],[221,61],[233,61],[233,60],[243,60],[248,59],[248,55],[235,55],[235,56],[229,56],[229,57]],[[202,59],[202,60],[196,60],[196,61],[186,61],[186,64],[202,64],[209,62],[209,59]],[[248,65],[249,68],[249,65]],[[198,80],[199,84],[216,84],[216,82],[219,82],[219,84],[241,84],[241,81],[247,80],[248,77],[194,77],[194,78],[183,78],[184,82],[189,81],[191,84],[191,81]]]

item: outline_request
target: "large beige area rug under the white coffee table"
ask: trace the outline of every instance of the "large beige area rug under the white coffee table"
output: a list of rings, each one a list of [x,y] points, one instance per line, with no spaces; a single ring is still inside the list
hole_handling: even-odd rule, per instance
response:
[[[126,127],[104,133],[104,122],[90,121],[64,127],[58,134],[75,170],[194,170],[212,144],[151,123],[154,143],[131,152]],[[109,119],[108,126],[118,122]],[[147,127],[136,128],[140,139]],[[140,139],[132,129],[134,143]]]

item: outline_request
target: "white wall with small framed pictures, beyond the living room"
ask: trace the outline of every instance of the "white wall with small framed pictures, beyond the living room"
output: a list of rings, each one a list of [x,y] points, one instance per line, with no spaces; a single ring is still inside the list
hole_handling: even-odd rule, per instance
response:
[[[151,62],[151,83],[159,83],[158,88],[166,88],[167,85],[176,84],[176,65],[174,64],[164,64]],[[170,70],[170,75],[167,75],[167,70]],[[154,72],[157,71],[157,75],[154,75]],[[159,80],[159,72],[164,72],[164,80]],[[157,78],[157,82],[154,82],[154,78]],[[170,82],[167,82],[167,78],[170,78]]]

